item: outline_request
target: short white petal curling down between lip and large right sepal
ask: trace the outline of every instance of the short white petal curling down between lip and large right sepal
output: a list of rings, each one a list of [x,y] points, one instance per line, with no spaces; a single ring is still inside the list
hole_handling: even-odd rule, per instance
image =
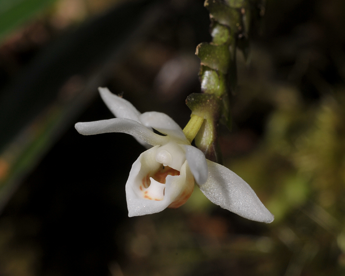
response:
[[[185,145],[186,159],[193,173],[195,182],[202,185],[208,177],[207,162],[204,153],[196,147]]]

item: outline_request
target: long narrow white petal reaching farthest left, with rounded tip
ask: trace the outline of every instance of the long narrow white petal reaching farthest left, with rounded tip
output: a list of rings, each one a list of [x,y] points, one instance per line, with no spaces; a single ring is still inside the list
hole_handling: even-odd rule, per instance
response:
[[[123,132],[139,138],[150,145],[164,145],[169,141],[169,137],[155,134],[140,123],[125,118],[78,122],[75,124],[75,128],[82,135]]]

